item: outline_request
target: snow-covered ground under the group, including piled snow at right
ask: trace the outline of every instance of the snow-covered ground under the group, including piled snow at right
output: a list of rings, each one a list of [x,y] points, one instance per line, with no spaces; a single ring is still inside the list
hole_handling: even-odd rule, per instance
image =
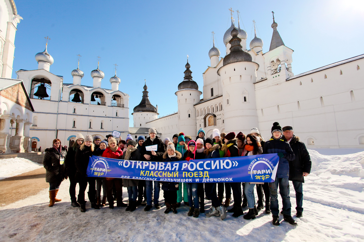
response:
[[[1,207],[0,241],[363,241],[364,240],[364,152],[324,156],[310,150],[311,174],[305,178],[304,213],[296,218],[295,194],[290,187],[292,216],[297,226],[282,221],[272,225],[272,216],[260,211],[254,220],[242,216],[188,217],[186,206],[178,214],[162,208],[134,212],[90,208],[86,213],[70,206],[68,180],[62,182],[62,202],[48,208],[48,190]],[[124,201],[127,200],[124,189]],[[279,196],[278,196],[279,197]],[[281,200],[279,201],[280,205]],[[210,201],[205,201],[209,208]],[[245,208],[247,210],[247,208]]]

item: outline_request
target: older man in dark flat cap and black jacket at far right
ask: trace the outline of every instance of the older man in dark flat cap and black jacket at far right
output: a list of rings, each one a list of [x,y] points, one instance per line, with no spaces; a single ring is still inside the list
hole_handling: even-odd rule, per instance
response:
[[[292,181],[296,191],[296,217],[302,217],[303,189],[302,183],[305,182],[304,176],[308,176],[311,171],[311,159],[305,144],[300,141],[299,137],[293,135],[293,128],[285,126],[282,128],[283,139],[287,141],[292,148],[296,159],[289,162],[289,180]]]

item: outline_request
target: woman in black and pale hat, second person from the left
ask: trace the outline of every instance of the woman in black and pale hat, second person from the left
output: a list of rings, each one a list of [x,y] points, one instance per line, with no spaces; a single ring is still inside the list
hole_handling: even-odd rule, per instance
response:
[[[80,205],[76,202],[76,165],[75,156],[77,148],[83,143],[84,137],[82,134],[77,134],[75,143],[68,149],[66,159],[64,159],[64,164],[67,168],[67,176],[70,179],[70,196],[71,196],[71,206],[79,207]]]

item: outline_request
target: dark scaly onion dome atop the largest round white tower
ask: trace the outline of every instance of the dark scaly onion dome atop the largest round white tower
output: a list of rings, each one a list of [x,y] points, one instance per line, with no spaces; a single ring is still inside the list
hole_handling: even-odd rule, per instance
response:
[[[240,61],[250,61],[252,62],[252,56],[249,53],[246,53],[242,50],[240,42],[241,39],[238,37],[239,31],[236,28],[233,28],[231,31],[231,36],[233,38],[229,41],[230,53],[227,54],[223,60],[223,65],[227,65],[230,63],[240,62]]]

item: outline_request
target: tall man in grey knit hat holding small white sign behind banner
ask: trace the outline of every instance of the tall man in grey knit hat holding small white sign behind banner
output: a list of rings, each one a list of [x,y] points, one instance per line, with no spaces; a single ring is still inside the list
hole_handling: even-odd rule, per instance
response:
[[[155,128],[149,129],[149,135],[150,136],[143,143],[142,148],[140,149],[141,160],[161,162],[163,161],[163,154],[164,152],[166,152],[166,147],[163,141],[157,136],[157,130]],[[146,147],[150,145],[157,145],[157,151],[147,151]],[[144,208],[144,211],[149,211],[152,208],[153,181],[145,182],[147,190],[147,206]],[[161,190],[161,185],[159,184],[159,181],[154,181],[154,207],[156,209],[161,208],[161,206],[159,206],[159,190]]]

